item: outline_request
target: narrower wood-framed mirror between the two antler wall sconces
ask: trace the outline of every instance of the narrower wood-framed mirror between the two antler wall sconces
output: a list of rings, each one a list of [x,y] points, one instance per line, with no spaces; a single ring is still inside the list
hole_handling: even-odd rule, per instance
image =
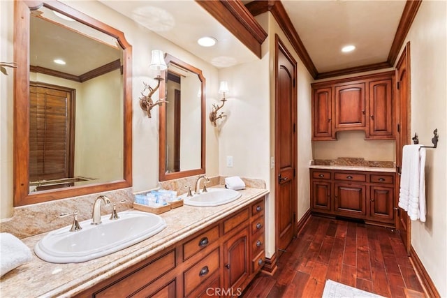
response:
[[[166,54],[159,110],[159,180],[205,173],[205,77],[202,70]]]

